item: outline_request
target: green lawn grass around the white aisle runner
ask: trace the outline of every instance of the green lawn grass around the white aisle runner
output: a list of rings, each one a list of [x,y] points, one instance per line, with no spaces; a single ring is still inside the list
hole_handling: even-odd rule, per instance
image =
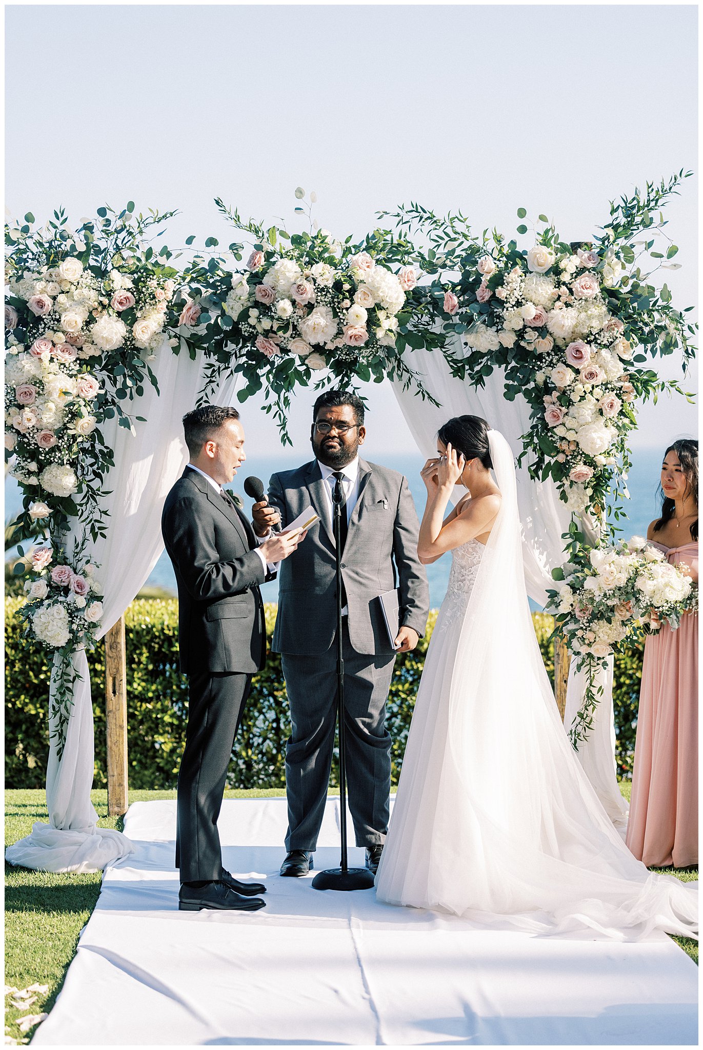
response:
[[[629,798],[629,783],[622,783],[622,794]],[[226,791],[225,798],[275,798],[282,789],[270,791]],[[334,794],[330,792],[330,794]],[[107,792],[94,791],[92,804],[100,817],[100,827],[122,830],[122,818],[107,816]],[[130,791],[129,801],[153,801],[175,798],[174,791]],[[5,845],[28,835],[35,820],[46,821],[43,791],[5,792]],[[698,879],[698,870],[662,868],[683,881]],[[61,990],[63,979],[78,944],[78,938],[90,918],[100,894],[102,873],[94,875],[51,875],[28,872],[5,864],[5,984],[27,988],[48,985],[28,1010],[8,1007],[5,1037],[26,1043],[34,1033],[22,1033],[17,1022],[26,1014],[48,1013]],[[698,942],[675,938],[684,951],[698,963]]]

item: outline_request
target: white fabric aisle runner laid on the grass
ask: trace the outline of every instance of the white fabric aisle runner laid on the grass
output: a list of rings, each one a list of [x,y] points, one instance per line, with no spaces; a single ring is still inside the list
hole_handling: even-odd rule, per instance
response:
[[[329,800],[316,868],[339,862]],[[64,988],[33,1044],[683,1045],[698,969],[644,943],[485,930],[277,876],[284,799],[226,801],[225,865],[266,881],[261,911],[179,911],[175,802],[137,802],[137,852],[105,873]],[[363,864],[360,849],[350,863]]]

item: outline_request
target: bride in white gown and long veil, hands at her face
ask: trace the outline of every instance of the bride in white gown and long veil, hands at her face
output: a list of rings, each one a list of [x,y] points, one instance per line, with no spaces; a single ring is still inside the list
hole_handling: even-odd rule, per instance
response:
[[[438,452],[422,471],[418,550],[430,562],[452,549],[452,570],[378,898],[538,933],[695,937],[696,884],[650,874],[635,859],[561,724],[528,604],[508,442],[484,420],[462,416],[440,429]],[[471,498],[442,525],[458,480]]]

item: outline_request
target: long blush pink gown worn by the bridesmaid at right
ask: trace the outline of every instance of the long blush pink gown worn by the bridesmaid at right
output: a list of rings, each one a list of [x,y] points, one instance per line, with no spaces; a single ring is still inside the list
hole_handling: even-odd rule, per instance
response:
[[[698,543],[664,547],[698,580]],[[698,864],[698,614],[646,639],[627,845],[647,867]]]

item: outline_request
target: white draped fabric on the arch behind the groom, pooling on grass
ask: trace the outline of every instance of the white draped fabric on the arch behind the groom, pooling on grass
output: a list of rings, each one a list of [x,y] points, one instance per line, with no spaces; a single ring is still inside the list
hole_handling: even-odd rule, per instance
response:
[[[163,551],[161,508],[188,459],[181,419],[195,405],[203,364],[202,354],[192,360],[185,343],[180,354],[173,354],[164,339],[153,368],[160,393],[145,382],[142,398],[124,402],[132,418],[143,416],[146,422],[133,422],[133,434],[119,426],[117,417],[103,426],[105,441],[115,450],[115,467],[105,479],[108,495],[101,501],[109,514],[107,537],[87,547],[89,560],[100,566],[97,576],[105,591],[100,637],[123,614]],[[230,404],[235,388],[236,379],[230,378],[212,400]],[[11,864],[45,872],[95,872],[132,852],[124,835],[97,827],[90,801],[92,704],[83,650],[75,654],[74,667],[81,677],[74,687],[61,759],[53,742],[49,749],[48,824],[35,823],[29,836],[8,847],[5,857]]]

